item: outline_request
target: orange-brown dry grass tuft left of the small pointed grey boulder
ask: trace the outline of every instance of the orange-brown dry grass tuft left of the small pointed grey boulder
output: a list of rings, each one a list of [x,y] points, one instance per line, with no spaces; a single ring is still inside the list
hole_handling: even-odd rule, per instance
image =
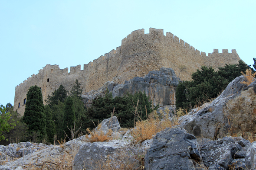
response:
[[[92,131],[87,128],[86,131],[90,133],[90,135],[85,135],[86,141],[96,142],[96,141],[110,141],[112,140],[112,130],[109,129],[106,134],[101,130],[102,125],[99,124],[98,128],[93,129]]]

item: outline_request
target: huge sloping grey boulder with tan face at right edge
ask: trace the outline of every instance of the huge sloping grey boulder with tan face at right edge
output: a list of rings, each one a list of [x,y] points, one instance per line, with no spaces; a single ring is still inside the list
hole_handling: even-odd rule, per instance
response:
[[[243,132],[249,136],[256,132],[256,81],[248,87],[241,83],[244,76],[234,79],[210,105],[192,109],[181,117],[181,127],[197,137],[215,139]]]

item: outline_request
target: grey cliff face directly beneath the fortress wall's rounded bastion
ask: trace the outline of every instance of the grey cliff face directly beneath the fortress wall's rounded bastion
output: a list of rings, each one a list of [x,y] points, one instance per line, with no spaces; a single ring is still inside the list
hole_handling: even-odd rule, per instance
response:
[[[155,105],[164,106],[171,104],[175,107],[175,90],[178,80],[173,69],[162,67],[160,71],[149,71],[144,77],[134,77],[131,80],[125,81],[124,84],[108,81],[98,90],[85,93],[85,95],[82,95],[82,98],[85,106],[89,107],[92,104],[92,99],[95,99],[97,96],[105,96],[107,88],[112,92],[113,97],[142,91],[147,96],[151,96]]]

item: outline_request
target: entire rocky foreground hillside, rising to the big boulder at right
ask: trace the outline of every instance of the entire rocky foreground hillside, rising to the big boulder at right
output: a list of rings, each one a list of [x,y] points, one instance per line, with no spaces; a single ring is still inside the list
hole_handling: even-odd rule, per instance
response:
[[[244,80],[237,77],[212,103],[152,139],[135,142],[141,127],[122,129],[114,116],[95,131],[109,141],[90,142],[91,134],[59,145],[1,145],[0,170],[255,170],[256,81],[246,86]]]

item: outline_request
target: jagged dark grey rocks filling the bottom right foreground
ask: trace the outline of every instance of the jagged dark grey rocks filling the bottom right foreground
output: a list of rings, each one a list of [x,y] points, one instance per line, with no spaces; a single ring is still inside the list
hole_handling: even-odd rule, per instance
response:
[[[144,162],[145,170],[247,170],[255,166],[254,154],[254,145],[242,137],[200,139],[174,126],[154,137]]]

